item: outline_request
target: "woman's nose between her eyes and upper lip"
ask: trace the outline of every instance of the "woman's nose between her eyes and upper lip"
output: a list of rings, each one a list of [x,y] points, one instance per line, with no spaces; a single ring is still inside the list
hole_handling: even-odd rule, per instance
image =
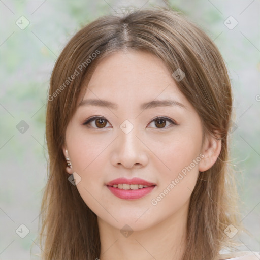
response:
[[[122,165],[125,168],[142,168],[148,163],[148,148],[145,141],[134,127],[131,132],[124,133],[120,128],[118,137],[114,141],[111,163],[118,167]]]

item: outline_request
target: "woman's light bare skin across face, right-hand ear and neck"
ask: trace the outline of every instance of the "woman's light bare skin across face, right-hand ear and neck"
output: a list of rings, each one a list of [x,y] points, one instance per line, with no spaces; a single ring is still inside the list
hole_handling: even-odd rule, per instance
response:
[[[101,254],[96,257],[181,259],[191,192],[199,171],[204,172],[215,163],[221,141],[206,137],[203,142],[198,113],[177,88],[165,64],[147,52],[119,51],[102,60],[79,103],[87,99],[107,100],[118,106],[79,106],[68,124],[63,146],[64,156],[68,155],[72,164],[67,171],[80,175],[76,187],[98,217]],[[140,109],[143,103],[165,99],[183,106]],[[93,116],[101,116],[105,121],[83,125]],[[168,117],[178,125],[153,121],[158,116]],[[125,120],[134,126],[127,134],[120,128]],[[152,199],[198,157],[199,163],[152,205]],[[139,177],[156,186],[141,199],[123,200],[106,186],[120,177]],[[120,232],[126,224],[133,231],[129,236]]]

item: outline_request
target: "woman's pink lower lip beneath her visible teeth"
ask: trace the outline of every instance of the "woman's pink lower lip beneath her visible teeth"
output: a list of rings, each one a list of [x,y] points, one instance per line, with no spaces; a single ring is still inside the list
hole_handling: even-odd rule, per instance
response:
[[[140,199],[150,193],[155,186],[148,186],[142,189],[119,189],[113,186],[107,186],[108,189],[118,198],[124,200]]]

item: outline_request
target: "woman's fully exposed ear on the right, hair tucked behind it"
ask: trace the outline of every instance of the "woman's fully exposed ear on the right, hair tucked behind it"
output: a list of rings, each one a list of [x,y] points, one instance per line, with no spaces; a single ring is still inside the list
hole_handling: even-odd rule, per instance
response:
[[[199,163],[199,171],[205,172],[210,169],[216,162],[221,151],[221,139],[218,135],[217,138],[213,136],[205,137],[202,150],[204,157]]]

